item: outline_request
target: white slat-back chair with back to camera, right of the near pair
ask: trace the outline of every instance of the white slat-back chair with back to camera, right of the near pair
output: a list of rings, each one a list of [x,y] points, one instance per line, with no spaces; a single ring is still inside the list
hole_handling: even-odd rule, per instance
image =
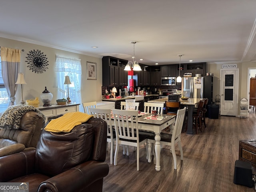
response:
[[[116,130],[116,151],[114,155],[114,165],[117,165],[119,146],[127,145],[137,147],[137,171],[140,170],[140,148],[147,141],[148,135],[139,134],[138,131],[138,111],[112,109],[114,115],[114,125]],[[129,118],[135,118],[128,120]]]

